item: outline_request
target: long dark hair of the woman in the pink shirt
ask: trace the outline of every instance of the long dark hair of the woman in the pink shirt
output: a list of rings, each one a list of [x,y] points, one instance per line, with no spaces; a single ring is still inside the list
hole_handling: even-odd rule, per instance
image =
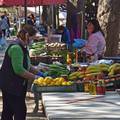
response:
[[[96,33],[96,32],[98,32],[98,31],[101,31],[101,33],[104,35],[104,33],[103,33],[103,31],[102,31],[102,29],[101,29],[101,27],[100,27],[100,24],[99,24],[98,20],[96,20],[96,19],[89,20],[89,21],[87,22],[87,25],[88,25],[89,23],[92,23],[93,26],[94,26],[94,31],[93,31],[93,33]]]

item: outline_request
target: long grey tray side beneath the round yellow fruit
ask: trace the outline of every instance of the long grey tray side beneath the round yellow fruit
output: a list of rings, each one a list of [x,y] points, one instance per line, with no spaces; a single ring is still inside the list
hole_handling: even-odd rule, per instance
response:
[[[32,85],[33,92],[76,92],[76,85],[71,86],[38,86]]]

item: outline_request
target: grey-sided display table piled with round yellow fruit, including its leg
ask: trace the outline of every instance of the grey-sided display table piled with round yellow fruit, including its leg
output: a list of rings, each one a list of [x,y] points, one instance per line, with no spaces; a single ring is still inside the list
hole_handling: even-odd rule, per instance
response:
[[[34,80],[31,88],[34,93],[36,112],[39,108],[39,99],[43,92],[76,92],[77,87],[74,82],[66,81],[63,77],[40,77]]]

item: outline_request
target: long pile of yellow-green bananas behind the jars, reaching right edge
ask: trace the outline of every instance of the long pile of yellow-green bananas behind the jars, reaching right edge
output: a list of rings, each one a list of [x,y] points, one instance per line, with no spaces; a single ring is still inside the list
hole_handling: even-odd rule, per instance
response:
[[[114,63],[112,65],[107,64],[98,64],[98,65],[90,65],[86,67],[84,70],[78,70],[69,74],[69,80],[77,80],[81,78],[93,78],[97,77],[98,75],[105,75],[105,76],[113,76],[120,74],[120,64]]]

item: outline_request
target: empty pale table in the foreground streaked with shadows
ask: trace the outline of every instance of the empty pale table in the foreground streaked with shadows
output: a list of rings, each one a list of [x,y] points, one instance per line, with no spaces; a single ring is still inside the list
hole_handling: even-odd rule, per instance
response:
[[[42,102],[49,120],[118,120],[120,96],[88,93],[43,93]]]

